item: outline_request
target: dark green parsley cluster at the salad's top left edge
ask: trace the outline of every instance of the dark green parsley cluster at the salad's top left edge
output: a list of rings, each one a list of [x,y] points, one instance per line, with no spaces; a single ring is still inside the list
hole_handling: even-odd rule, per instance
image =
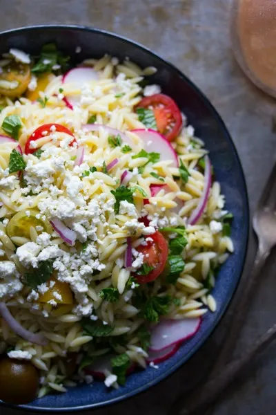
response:
[[[42,46],[41,55],[31,71],[33,73],[52,72],[59,69],[52,68],[52,66],[57,65],[64,72],[68,68],[69,59],[69,56],[65,56],[57,50],[57,46],[54,43],[46,44]]]

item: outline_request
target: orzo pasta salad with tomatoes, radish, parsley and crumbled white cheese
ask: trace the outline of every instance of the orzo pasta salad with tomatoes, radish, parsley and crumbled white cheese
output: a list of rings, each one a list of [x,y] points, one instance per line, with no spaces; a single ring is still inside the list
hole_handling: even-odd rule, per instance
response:
[[[0,398],[11,403],[158,369],[216,311],[215,275],[233,252],[208,151],[150,84],[156,68],[108,55],[69,67],[54,44],[0,60]]]

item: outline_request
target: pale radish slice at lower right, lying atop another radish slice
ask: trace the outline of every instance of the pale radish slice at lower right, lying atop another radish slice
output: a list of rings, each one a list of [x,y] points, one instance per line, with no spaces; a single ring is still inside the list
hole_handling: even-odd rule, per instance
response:
[[[186,318],[182,320],[161,320],[152,329],[150,350],[161,351],[168,347],[188,340],[197,333],[201,319]]]

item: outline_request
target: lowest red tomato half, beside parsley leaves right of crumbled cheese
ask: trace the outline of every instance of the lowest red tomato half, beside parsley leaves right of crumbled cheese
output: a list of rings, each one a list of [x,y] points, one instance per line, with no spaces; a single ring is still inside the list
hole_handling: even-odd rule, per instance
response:
[[[139,284],[144,284],[156,279],[163,271],[168,259],[168,243],[160,232],[150,235],[153,241],[148,242],[146,246],[138,246],[137,251],[144,254],[144,262],[154,267],[148,275],[137,275],[135,278]]]

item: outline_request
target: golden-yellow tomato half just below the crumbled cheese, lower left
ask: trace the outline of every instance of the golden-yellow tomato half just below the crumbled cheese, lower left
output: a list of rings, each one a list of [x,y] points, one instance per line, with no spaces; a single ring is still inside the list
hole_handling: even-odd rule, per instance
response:
[[[55,282],[55,285],[51,288],[50,282],[52,281]],[[49,289],[46,293],[39,296],[39,302],[48,303],[51,299],[53,299],[57,304],[73,304],[73,296],[69,284],[57,281],[57,279],[52,277],[47,282],[47,286]]]

